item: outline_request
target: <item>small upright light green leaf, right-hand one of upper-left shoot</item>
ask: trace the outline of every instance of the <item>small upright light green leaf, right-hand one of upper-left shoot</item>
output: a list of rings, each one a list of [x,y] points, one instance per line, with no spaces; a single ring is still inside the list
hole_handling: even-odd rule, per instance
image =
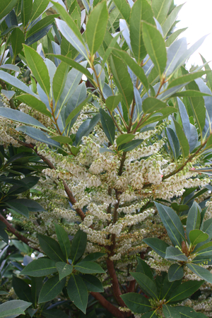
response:
[[[61,93],[63,92],[68,72],[69,72],[69,66],[67,66],[67,64],[64,62],[61,62],[59,66],[57,67],[57,71],[54,73],[52,90],[53,90],[55,105],[57,105],[57,102],[61,96]]]

